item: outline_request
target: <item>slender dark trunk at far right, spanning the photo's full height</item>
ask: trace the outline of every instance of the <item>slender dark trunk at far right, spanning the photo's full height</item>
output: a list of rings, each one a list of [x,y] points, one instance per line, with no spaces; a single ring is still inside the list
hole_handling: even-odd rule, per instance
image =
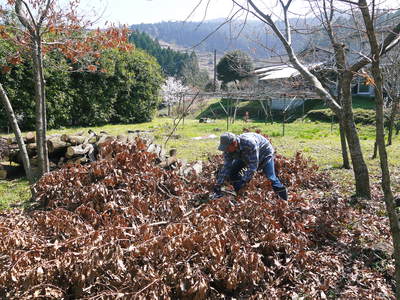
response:
[[[371,18],[366,0],[359,0],[358,7],[361,10],[364,24],[367,29],[368,40],[371,45],[372,53],[372,75],[375,81],[375,103],[376,103],[376,142],[379,149],[379,157],[382,170],[382,190],[386,204],[386,211],[389,216],[390,231],[392,234],[394,248],[394,264],[396,279],[396,299],[400,299],[400,224],[396,207],[394,204],[393,193],[390,186],[390,171],[387,160],[387,152],[385,146],[385,128],[384,128],[384,99],[383,99],[383,78],[380,70],[380,53],[378,41],[375,36],[374,23]]]

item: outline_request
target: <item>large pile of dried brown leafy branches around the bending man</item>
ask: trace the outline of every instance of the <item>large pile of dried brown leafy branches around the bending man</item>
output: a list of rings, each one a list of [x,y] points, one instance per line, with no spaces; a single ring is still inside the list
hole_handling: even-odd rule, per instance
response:
[[[181,178],[142,149],[111,142],[111,160],[36,184],[46,209],[2,212],[0,298],[393,297],[393,266],[365,246],[389,236],[386,219],[324,198],[335,186],[300,154],[277,157],[288,202],[257,174],[235,205],[226,196],[194,207],[221,158]]]

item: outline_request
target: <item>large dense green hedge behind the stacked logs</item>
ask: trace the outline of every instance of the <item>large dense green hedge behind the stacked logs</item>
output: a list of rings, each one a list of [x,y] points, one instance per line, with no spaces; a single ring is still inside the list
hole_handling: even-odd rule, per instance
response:
[[[3,48],[2,48],[3,47]],[[6,45],[0,43],[0,54]],[[161,69],[140,50],[108,51],[99,61],[106,72],[69,72],[72,66],[58,53],[47,53],[45,80],[48,128],[97,126],[150,121],[159,103]],[[35,89],[30,59],[0,73],[23,130],[35,128]],[[0,128],[8,119],[0,106]]]

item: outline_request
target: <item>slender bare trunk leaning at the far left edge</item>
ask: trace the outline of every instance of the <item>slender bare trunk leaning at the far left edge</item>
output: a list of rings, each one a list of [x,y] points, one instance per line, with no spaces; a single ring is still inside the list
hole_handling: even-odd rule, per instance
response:
[[[17,140],[19,150],[21,152],[22,163],[24,165],[26,177],[28,178],[29,183],[32,184],[34,183],[34,178],[32,174],[31,163],[29,161],[28,151],[26,150],[24,139],[22,138],[21,130],[19,129],[17,117],[15,116],[14,110],[11,106],[11,102],[8,99],[7,93],[4,90],[1,83],[0,83],[0,97],[3,102],[4,108],[6,110],[8,120],[10,121],[11,128],[13,129],[15,138]]]

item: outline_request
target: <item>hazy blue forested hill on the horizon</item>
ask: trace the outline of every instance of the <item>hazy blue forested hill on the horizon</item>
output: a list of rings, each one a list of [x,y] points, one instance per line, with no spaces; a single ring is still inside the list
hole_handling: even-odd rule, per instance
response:
[[[377,22],[383,28],[386,25],[395,24],[395,20],[398,20],[399,17],[400,10],[381,11]],[[222,56],[226,51],[239,49],[258,61],[286,54],[281,42],[264,23],[258,20],[248,20],[245,26],[239,21],[222,25],[224,21],[224,19],[202,23],[169,21],[134,24],[131,28],[148,33],[154,39],[158,39],[160,44],[163,42],[171,47],[186,49],[188,52],[195,50],[196,53],[210,54],[217,50],[217,55]],[[330,45],[326,32],[316,18],[298,18],[289,21],[293,27],[299,29],[292,32],[293,47],[296,51],[304,50],[309,45],[320,47]],[[354,48],[353,52],[360,52],[360,44],[353,36],[354,29],[352,28],[355,27],[353,20],[346,14],[341,14],[336,17],[335,23],[340,25],[337,33],[340,33],[341,38],[346,39],[350,48]],[[277,22],[276,25],[283,30],[282,22]],[[312,33],[307,30],[310,28],[312,28]],[[368,49],[364,50],[368,51]],[[210,57],[207,59],[212,60]]]

